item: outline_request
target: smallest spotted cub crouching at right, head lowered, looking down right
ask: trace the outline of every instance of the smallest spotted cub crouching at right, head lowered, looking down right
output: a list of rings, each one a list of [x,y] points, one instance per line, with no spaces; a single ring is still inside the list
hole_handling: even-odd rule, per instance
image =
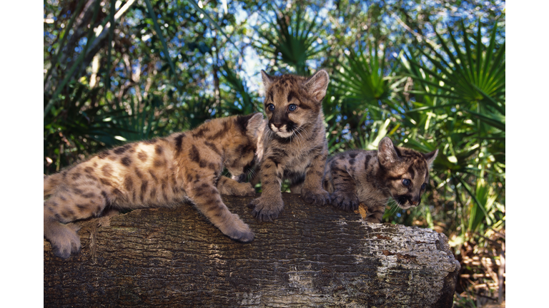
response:
[[[385,137],[377,150],[349,150],[330,158],[323,186],[334,207],[350,211],[362,203],[367,222],[380,223],[390,198],[402,209],[420,204],[437,153],[398,148]]]

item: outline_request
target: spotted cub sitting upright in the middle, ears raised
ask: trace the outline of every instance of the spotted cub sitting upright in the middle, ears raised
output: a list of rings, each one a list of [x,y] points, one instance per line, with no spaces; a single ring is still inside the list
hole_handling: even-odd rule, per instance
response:
[[[272,221],[284,207],[280,193],[284,179],[290,180],[292,193],[302,193],[306,202],[330,202],[322,189],[328,155],[322,98],[330,78],[325,70],[309,78],[261,73],[268,120],[263,145],[258,145],[262,195],[248,206],[258,220]]]

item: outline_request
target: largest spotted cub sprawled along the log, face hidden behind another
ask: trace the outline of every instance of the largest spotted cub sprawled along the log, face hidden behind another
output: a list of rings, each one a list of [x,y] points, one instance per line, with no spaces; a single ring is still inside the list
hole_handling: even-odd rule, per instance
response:
[[[167,138],[128,143],[44,176],[44,237],[54,255],[80,250],[74,220],[99,216],[106,207],[174,207],[189,199],[225,235],[251,242],[254,233],[229,212],[219,193],[255,195],[238,177],[254,161],[261,113],[218,118]],[[47,199],[46,199],[47,197]]]

